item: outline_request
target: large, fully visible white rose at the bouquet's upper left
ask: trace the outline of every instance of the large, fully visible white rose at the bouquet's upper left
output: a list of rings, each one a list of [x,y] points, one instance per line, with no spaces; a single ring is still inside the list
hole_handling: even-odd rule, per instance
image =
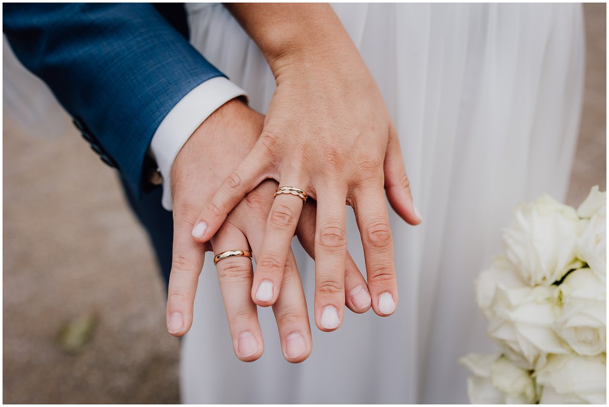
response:
[[[549,195],[516,207],[512,224],[503,231],[502,242],[505,255],[526,284],[551,285],[578,267],[578,221],[575,209]]]

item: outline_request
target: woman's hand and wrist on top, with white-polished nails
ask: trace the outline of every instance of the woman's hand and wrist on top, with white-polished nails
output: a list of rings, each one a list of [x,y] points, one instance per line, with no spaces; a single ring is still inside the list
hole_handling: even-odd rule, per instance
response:
[[[315,321],[322,330],[345,301],[345,202],[353,206],[364,245],[375,312],[393,313],[398,292],[384,189],[410,224],[412,204],[398,137],[375,80],[328,5],[233,4],[231,11],[266,55],[277,89],[264,131],[199,215],[193,235],[207,242],[228,212],[262,179],[305,190],[317,200]],[[309,203],[305,204],[305,208]],[[303,203],[275,198],[258,252],[252,298],[272,305],[280,295],[290,241]],[[257,295],[270,282],[272,296]]]

